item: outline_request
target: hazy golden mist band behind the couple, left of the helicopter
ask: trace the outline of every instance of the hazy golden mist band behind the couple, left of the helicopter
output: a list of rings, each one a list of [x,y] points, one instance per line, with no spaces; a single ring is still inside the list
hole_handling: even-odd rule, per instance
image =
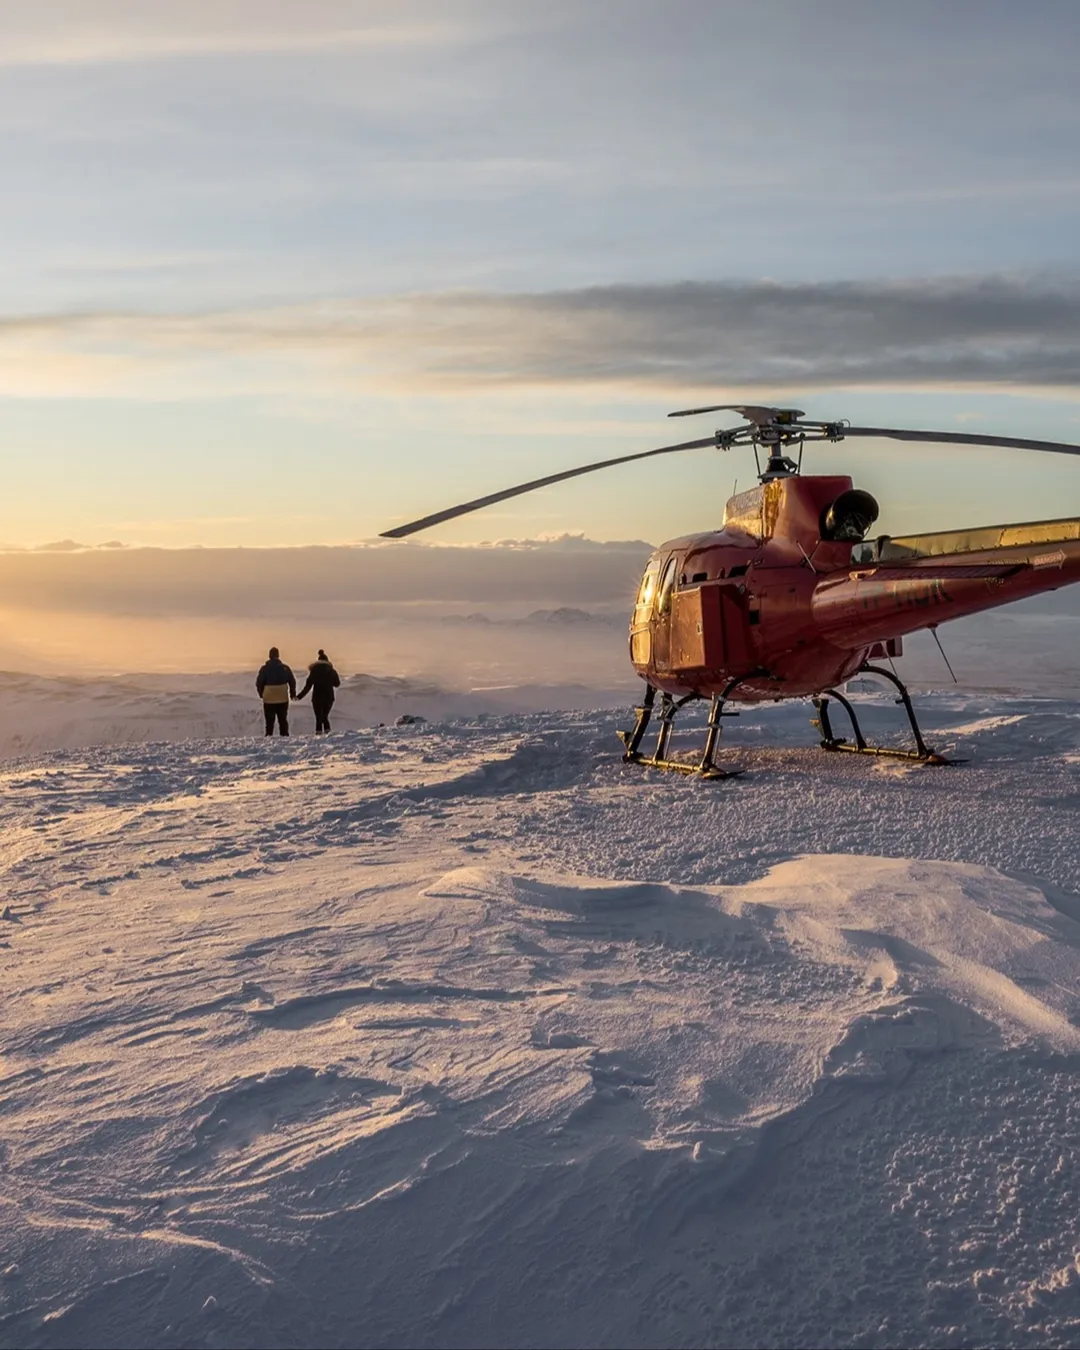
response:
[[[625,679],[649,545],[566,537],[0,554],[0,667],[50,675],[297,668],[500,682]]]

